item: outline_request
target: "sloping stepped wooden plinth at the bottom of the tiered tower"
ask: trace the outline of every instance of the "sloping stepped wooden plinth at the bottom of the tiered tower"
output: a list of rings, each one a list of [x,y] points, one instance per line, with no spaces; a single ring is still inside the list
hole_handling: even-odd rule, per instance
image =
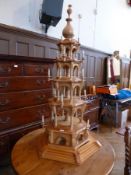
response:
[[[73,147],[48,144],[45,146],[42,158],[80,165],[98,151],[100,147],[100,142],[93,137],[89,137],[87,143],[76,149]]]

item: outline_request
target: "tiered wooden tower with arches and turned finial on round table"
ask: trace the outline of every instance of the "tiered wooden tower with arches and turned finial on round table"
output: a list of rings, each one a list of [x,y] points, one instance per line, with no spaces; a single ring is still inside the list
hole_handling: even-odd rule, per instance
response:
[[[81,75],[82,59],[76,58],[79,42],[73,39],[71,5],[67,10],[67,25],[58,43],[56,77],[52,79],[54,97],[49,100],[52,121],[47,127],[48,144],[43,158],[81,164],[99,149],[97,142],[89,139],[88,123],[83,120],[85,101],[81,99],[84,75]]]

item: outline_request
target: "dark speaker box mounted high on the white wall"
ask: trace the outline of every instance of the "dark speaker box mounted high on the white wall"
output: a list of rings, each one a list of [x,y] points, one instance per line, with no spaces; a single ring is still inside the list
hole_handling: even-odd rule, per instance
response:
[[[40,23],[45,24],[45,33],[49,26],[56,26],[61,19],[63,0],[43,0],[40,11]]]

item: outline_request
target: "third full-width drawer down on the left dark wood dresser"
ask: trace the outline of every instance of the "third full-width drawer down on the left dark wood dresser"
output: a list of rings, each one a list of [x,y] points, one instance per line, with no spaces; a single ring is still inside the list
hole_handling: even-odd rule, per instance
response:
[[[40,121],[51,116],[48,104],[0,112],[0,131]]]

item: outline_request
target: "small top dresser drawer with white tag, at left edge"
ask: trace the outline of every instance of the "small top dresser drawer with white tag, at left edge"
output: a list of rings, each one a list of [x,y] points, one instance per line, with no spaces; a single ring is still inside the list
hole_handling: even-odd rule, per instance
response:
[[[20,76],[23,65],[17,62],[0,62],[0,76]]]

